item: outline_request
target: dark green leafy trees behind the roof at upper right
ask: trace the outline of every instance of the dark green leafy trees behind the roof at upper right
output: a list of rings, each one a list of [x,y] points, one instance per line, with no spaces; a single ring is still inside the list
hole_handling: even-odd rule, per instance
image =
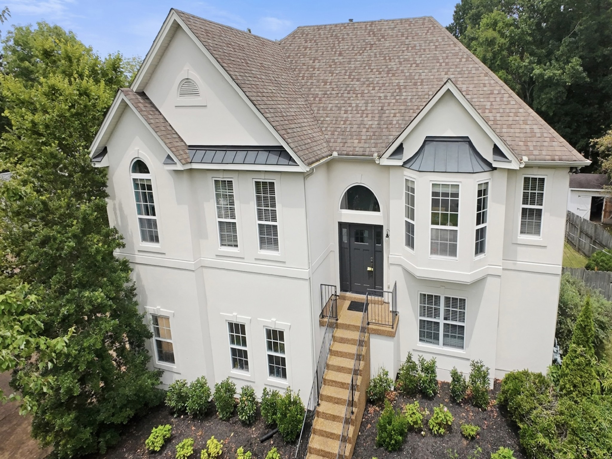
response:
[[[586,157],[612,125],[612,0],[461,0],[447,27]]]

